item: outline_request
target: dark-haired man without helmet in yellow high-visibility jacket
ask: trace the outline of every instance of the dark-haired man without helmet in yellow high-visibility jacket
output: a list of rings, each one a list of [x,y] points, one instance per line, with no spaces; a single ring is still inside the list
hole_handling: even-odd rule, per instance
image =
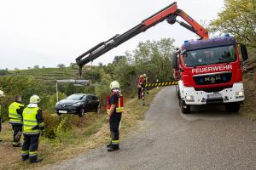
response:
[[[24,105],[21,103],[21,96],[15,96],[15,101],[9,105],[9,123],[14,130],[13,147],[20,147],[20,138],[22,135],[22,112]]]

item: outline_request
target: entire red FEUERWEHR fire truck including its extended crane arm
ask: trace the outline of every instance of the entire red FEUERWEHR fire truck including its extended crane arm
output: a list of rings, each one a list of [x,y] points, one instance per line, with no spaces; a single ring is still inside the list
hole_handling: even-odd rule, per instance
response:
[[[177,16],[186,22],[177,20]],[[185,41],[172,55],[174,78],[177,81],[172,85],[177,84],[181,111],[189,113],[190,105],[212,103],[225,104],[227,111],[239,111],[244,100],[240,53],[242,59],[247,59],[246,46],[229,36],[209,39],[207,30],[177,8],[177,3],[170,4],[131,30],[100,42],[81,54],[76,59],[80,74],[83,65],[164,20],[171,25],[178,23],[200,37],[199,40]]]

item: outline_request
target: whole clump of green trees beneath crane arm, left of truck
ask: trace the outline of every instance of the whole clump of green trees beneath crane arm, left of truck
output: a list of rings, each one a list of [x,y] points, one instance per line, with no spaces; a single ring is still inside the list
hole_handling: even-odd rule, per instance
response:
[[[132,53],[115,56],[113,62],[103,69],[118,80],[122,88],[137,86],[137,77],[143,73],[152,81],[169,80],[172,78],[171,55],[175,49],[173,42],[171,38],[139,42]]]

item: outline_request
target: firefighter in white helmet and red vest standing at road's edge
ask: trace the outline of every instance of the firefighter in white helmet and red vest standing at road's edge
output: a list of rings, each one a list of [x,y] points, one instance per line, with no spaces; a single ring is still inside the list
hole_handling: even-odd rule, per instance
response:
[[[124,100],[119,82],[110,83],[111,94],[107,100],[107,122],[109,122],[111,142],[107,145],[108,151],[119,150],[119,123],[124,111]]]

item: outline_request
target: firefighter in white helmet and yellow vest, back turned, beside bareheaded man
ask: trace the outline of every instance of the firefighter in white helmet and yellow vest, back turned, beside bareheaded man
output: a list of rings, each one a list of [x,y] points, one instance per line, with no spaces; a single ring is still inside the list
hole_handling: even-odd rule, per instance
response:
[[[38,95],[32,95],[26,109],[23,111],[23,136],[22,161],[28,158],[31,163],[42,161],[38,158],[38,142],[40,133],[44,133],[43,112],[38,107],[40,98]]]

